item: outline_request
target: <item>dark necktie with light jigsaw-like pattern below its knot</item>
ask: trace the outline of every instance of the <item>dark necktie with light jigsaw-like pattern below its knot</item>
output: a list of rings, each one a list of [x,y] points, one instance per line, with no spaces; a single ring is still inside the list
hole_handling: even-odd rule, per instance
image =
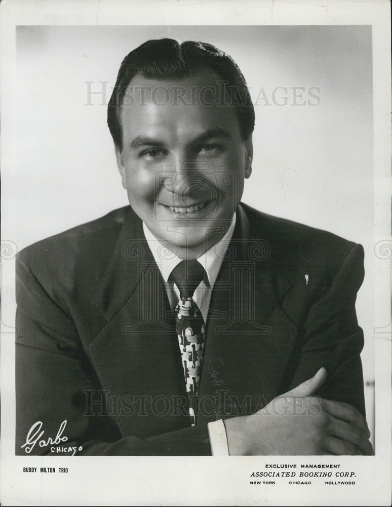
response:
[[[203,266],[194,260],[180,262],[169,277],[169,281],[174,281],[180,291],[180,299],[175,310],[176,331],[182,355],[192,426],[196,422],[196,403],[206,339],[203,315],[193,301],[193,293],[206,276]]]

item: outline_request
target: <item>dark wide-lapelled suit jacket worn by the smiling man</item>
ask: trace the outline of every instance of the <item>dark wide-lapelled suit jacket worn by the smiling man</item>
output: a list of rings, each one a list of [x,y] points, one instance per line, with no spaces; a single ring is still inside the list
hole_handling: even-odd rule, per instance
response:
[[[17,454],[36,421],[45,442],[31,454],[51,454],[44,444],[66,420],[60,447],[80,454],[208,455],[209,421],[253,413],[322,366],[319,394],[364,414],[362,246],[246,205],[237,217],[211,298],[193,427],[163,279],[133,210],[20,252]]]

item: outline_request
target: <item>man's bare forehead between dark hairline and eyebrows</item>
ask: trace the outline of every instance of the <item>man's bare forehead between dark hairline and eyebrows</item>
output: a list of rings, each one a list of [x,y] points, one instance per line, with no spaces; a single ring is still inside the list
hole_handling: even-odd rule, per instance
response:
[[[210,68],[178,80],[135,76],[124,96],[121,122],[124,138],[153,131],[186,136],[211,128],[240,134],[231,96]]]

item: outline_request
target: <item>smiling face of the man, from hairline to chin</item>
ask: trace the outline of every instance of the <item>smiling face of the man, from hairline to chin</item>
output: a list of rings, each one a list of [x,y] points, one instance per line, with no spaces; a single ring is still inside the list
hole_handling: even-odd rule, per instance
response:
[[[251,173],[251,139],[242,139],[219,79],[209,68],[176,81],[136,76],[122,106],[123,187],[148,229],[180,257],[224,235]]]

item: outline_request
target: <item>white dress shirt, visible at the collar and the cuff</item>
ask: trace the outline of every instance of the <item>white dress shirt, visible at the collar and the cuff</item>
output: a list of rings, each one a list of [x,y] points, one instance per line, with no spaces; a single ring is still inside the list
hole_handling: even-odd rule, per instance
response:
[[[215,245],[213,245],[209,250],[207,250],[205,253],[203,253],[202,256],[197,259],[198,262],[200,262],[200,264],[206,270],[208,282],[205,283],[204,280],[200,282],[199,286],[193,293],[193,300],[198,305],[205,323],[207,323],[212,290],[218,277],[222,261],[226,255],[227,247],[233,235],[235,225],[236,213],[233,214],[230,227],[228,228],[226,234]],[[155,236],[147,228],[144,222],[143,232],[154,260],[158,265],[162,273],[162,277],[165,281],[166,293],[169,298],[170,307],[172,310],[174,310],[180,297],[180,291],[177,285],[173,282],[169,282],[168,279],[170,273],[177,266],[177,264],[182,261],[182,259],[177,257],[175,253],[171,252],[168,248],[163,248],[162,244],[158,239],[155,238]],[[208,433],[212,455],[227,456],[227,437],[222,419],[214,422],[209,422]]]

